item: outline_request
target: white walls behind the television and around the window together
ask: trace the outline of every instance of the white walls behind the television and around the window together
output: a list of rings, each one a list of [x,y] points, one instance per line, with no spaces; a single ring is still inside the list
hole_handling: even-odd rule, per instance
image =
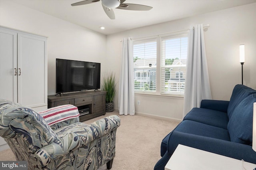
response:
[[[102,63],[119,79],[124,37],[141,38],[187,30],[194,24],[210,24],[205,42],[213,99],[229,100],[234,85],[241,83],[239,45],[246,45],[244,85],[256,89],[256,3],[199,16],[146,26],[118,34],[103,34],[8,1],[0,1],[0,25],[48,37],[48,95],[55,94],[55,59]],[[118,87],[117,87],[118,89]],[[118,108],[117,96],[115,108]],[[183,98],[136,95],[137,113],[182,119]]]

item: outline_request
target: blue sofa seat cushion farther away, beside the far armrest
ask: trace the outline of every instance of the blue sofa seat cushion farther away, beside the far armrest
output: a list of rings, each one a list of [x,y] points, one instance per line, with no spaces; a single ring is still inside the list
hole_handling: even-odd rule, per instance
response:
[[[228,128],[227,113],[211,109],[193,108],[186,117],[184,117],[184,120],[196,121],[224,129]]]

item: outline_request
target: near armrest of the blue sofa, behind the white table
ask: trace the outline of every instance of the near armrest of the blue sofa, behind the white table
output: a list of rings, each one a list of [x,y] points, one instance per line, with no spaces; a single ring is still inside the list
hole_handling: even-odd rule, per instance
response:
[[[167,144],[168,152],[172,154],[178,144],[256,164],[256,152],[250,145],[173,131]]]

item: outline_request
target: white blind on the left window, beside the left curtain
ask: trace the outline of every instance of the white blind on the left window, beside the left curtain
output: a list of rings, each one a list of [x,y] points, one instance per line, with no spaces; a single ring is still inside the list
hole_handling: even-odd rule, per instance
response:
[[[156,39],[133,42],[134,91],[156,92]]]

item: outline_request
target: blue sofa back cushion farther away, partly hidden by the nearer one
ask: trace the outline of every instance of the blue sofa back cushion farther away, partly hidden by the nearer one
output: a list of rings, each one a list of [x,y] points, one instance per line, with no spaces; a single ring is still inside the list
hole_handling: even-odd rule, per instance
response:
[[[238,104],[252,93],[256,93],[256,90],[247,87],[245,85],[236,85],[233,89],[230,102],[228,104],[228,118],[231,119],[231,115]]]

